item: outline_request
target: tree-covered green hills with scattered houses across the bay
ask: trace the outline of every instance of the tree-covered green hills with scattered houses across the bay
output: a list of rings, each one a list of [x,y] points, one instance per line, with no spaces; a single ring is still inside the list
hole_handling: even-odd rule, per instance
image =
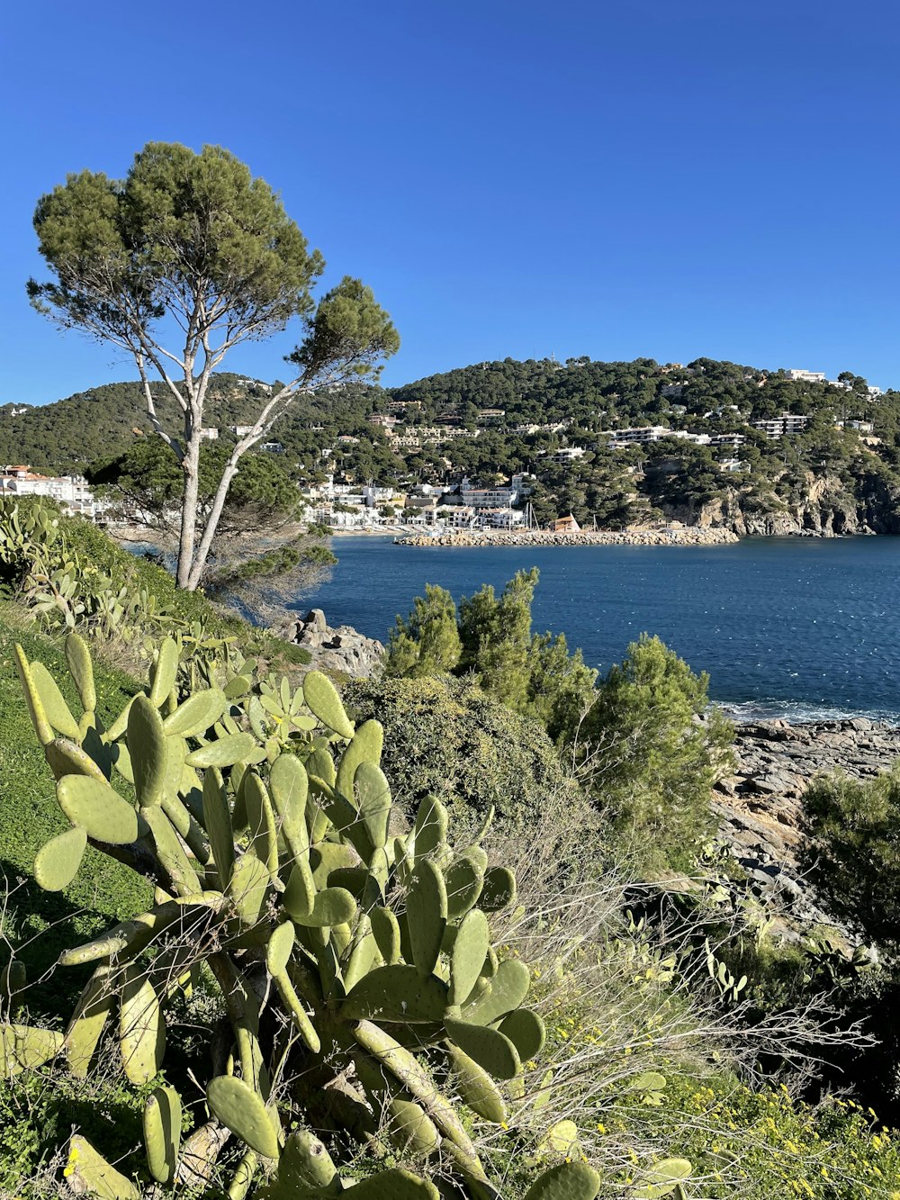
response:
[[[216,377],[210,426],[227,439],[271,386]],[[158,386],[156,396],[174,432],[174,402]],[[780,437],[755,424],[782,413],[805,420]],[[654,440],[623,434],[648,426]],[[0,408],[0,460],[43,470],[82,470],[149,436],[137,383]],[[505,359],[400,388],[318,392],[274,436],[310,482],[332,474],[402,490],[533,474],[541,522],[572,512],[613,528],[664,516],[740,533],[900,529],[900,392],[872,394],[852,372],[828,383],[713,359]]]

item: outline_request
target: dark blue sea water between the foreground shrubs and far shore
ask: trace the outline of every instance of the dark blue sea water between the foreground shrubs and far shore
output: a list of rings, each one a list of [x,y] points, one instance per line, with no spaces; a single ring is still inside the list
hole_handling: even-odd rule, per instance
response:
[[[737,716],[900,722],[900,538],[746,539],[731,546],[395,546],[340,538],[328,582],[296,607],[382,641],[426,583],[458,600],[538,566],[535,630],[601,671],[658,634]]]

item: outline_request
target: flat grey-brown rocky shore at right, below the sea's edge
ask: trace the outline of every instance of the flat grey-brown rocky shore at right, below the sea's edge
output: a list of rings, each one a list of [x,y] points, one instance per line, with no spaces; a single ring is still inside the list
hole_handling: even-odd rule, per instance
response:
[[[810,898],[797,864],[800,797],[814,775],[835,769],[856,779],[900,757],[900,728],[865,718],[788,725],[739,725],[738,770],[715,790],[720,834],[767,900],[799,922],[829,922]]]

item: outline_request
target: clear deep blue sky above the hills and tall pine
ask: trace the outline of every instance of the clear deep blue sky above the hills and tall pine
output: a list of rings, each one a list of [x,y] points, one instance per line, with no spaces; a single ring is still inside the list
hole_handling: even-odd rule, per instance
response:
[[[394,316],[386,383],[553,353],[900,386],[890,0],[49,0],[4,26],[0,402],[133,378],[24,283],[38,196],[148,140],[281,191]]]

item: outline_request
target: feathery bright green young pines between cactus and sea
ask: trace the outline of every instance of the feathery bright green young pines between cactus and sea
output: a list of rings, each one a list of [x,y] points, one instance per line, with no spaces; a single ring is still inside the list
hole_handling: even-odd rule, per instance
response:
[[[563,635],[532,632],[536,568],[500,595],[485,586],[460,602],[452,671],[539,721],[580,764],[584,786],[644,874],[692,864],[713,832],[713,784],[727,773],[732,727],[709,703],[709,679],[658,637],[641,637],[596,683]],[[428,588],[388,644],[389,678],[439,676],[456,658],[452,599]],[[436,652],[436,641],[452,648]]]

